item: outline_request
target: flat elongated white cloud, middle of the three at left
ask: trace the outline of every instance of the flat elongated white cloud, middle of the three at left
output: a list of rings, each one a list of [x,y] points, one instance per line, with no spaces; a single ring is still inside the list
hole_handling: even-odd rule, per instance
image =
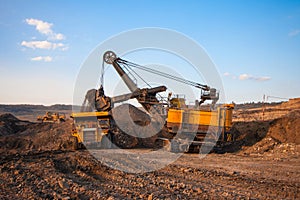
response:
[[[22,46],[32,49],[61,49],[65,50],[66,46],[63,43],[52,43],[47,40],[43,41],[22,41]]]

